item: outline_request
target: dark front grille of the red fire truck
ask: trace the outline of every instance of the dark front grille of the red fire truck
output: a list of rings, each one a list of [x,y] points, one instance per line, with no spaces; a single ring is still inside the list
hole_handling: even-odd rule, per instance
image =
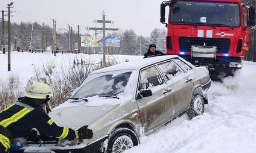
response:
[[[180,37],[180,51],[191,52],[191,46],[216,46],[217,53],[228,53],[230,47],[230,39],[221,38],[198,38],[198,37]]]

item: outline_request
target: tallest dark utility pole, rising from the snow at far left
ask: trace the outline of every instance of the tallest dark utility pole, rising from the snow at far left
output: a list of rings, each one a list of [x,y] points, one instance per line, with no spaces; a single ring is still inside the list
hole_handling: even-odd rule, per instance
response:
[[[8,8],[8,71],[11,71],[11,7],[13,2],[7,4]]]

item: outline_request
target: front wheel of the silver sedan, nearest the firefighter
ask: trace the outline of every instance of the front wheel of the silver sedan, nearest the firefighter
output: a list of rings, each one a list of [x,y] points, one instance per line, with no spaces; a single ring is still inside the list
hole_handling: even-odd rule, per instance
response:
[[[123,153],[138,144],[139,138],[134,131],[128,128],[118,128],[109,136],[107,152]]]

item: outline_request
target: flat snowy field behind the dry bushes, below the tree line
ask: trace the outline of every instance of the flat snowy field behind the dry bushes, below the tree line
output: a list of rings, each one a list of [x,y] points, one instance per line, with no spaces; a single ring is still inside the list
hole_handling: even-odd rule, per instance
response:
[[[118,62],[125,62],[126,59],[135,60],[141,59],[142,56],[128,56],[128,55],[106,55],[106,59],[115,58]],[[7,71],[7,54],[0,52],[0,80],[6,80],[10,75],[19,76],[22,80],[22,85],[25,87],[29,79],[34,76],[34,66],[41,68],[43,63],[52,61],[56,63],[56,68],[60,68],[60,65],[71,62],[75,59],[85,59],[92,61],[92,63],[98,63],[102,59],[102,55],[87,55],[87,54],[54,54],[52,53],[28,53],[28,52],[12,52],[11,53],[11,72]]]

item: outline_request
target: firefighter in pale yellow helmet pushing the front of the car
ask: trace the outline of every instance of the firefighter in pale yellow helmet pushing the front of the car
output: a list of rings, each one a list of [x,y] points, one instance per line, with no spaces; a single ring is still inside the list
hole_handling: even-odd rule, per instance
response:
[[[26,88],[25,97],[19,98],[0,113],[0,153],[8,152],[13,138],[25,137],[38,141],[39,136],[34,129],[40,135],[57,139],[78,140],[93,137],[93,131],[87,129],[87,126],[76,131],[56,125],[44,110],[50,111],[48,101],[51,95],[49,85],[33,83]]]

